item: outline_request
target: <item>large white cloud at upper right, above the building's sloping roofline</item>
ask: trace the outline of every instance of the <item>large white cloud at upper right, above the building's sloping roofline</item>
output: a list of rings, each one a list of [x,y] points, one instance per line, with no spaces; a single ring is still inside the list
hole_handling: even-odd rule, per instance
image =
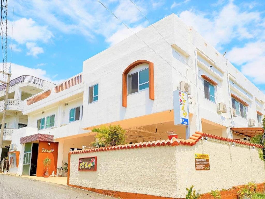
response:
[[[259,12],[242,12],[233,2],[225,5],[220,12],[213,14],[211,19],[207,13],[197,13],[186,10],[179,17],[188,25],[193,26],[213,46],[220,49],[223,44],[228,44],[234,38],[244,39],[257,36],[253,24],[260,19]]]

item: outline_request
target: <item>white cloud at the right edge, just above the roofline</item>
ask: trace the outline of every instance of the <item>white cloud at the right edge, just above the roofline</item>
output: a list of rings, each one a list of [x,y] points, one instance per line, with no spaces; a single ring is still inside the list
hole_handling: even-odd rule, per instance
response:
[[[254,83],[265,84],[265,41],[246,44],[244,47],[234,47],[227,53],[232,63],[241,66],[241,72],[252,78]]]

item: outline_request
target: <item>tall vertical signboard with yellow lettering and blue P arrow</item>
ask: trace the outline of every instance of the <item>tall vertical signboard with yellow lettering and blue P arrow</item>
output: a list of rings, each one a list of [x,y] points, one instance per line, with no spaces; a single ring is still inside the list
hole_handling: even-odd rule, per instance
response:
[[[189,126],[188,94],[181,90],[173,91],[174,124]]]

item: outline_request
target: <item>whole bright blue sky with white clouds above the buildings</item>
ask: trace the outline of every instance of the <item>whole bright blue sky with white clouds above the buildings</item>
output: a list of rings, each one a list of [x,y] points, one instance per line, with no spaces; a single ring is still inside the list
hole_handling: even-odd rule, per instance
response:
[[[229,61],[265,91],[263,0],[132,1],[151,23],[178,15],[220,53],[227,50]],[[131,35],[96,0],[15,0],[10,60],[13,2],[8,6],[12,78],[30,74],[59,83],[82,72],[84,60]],[[135,32],[150,25],[130,0],[102,3]]]

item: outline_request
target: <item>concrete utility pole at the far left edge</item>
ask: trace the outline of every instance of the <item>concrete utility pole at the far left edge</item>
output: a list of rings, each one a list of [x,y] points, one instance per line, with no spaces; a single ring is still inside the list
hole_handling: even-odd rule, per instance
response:
[[[4,73],[0,71],[0,73]],[[1,134],[0,134],[0,158],[2,156],[2,147],[3,147],[3,138],[4,138],[4,129],[5,129],[5,122],[6,122],[6,107],[7,107],[7,99],[8,99],[8,89],[9,89],[9,83],[10,83],[10,76],[11,76],[11,63],[9,65],[9,70],[7,73],[7,82],[6,83],[6,98],[5,98],[5,104],[4,104],[4,110],[3,110],[3,118],[2,118],[2,126],[1,126]]]

